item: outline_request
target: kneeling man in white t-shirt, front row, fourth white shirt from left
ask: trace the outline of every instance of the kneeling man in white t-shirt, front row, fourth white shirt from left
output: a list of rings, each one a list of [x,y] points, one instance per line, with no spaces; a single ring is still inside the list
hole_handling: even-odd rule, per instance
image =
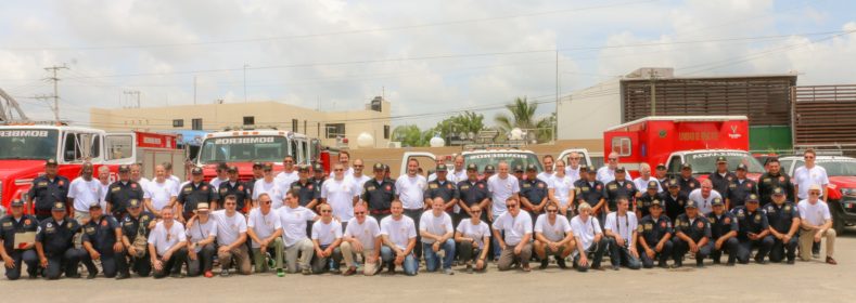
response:
[[[253,262],[256,273],[265,273],[268,271],[266,255],[272,252],[277,261],[277,276],[282,277],[285,275],[282,269],[282,222],[271,207],[270,197],[260,200],[258,207],[250,211],[246,222],[246,235],[253,240]]]

